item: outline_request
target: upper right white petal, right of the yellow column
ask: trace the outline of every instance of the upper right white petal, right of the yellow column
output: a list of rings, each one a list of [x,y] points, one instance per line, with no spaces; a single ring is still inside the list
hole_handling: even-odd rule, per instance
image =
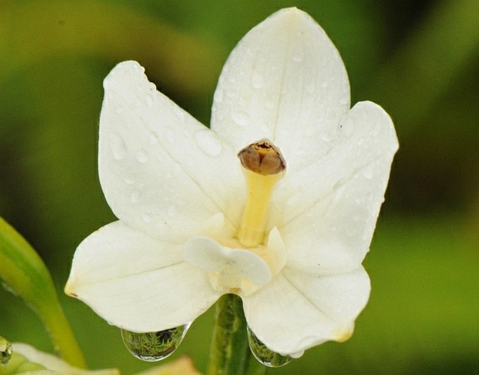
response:
[[[358,267],[369,250],[398,148],[383,108],[361,102],[341,122],[331,150],[296,174],[286,174],[271,217],[288,251],[288,266],[324,274]]]

